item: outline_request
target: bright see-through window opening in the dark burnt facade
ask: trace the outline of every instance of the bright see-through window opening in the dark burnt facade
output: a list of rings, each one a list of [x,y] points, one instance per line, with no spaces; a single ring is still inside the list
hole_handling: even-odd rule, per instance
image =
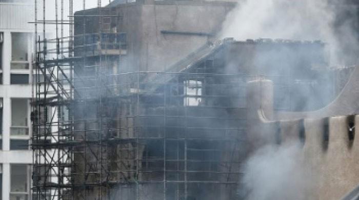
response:
[[[202,81],[185,81],[184,93],[184,106],[199,106],[202,101]]]

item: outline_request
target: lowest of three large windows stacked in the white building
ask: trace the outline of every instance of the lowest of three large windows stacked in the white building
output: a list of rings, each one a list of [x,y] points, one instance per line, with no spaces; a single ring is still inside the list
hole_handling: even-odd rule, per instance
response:
[[[10,200],[28,200],[28,165],[10,165]]]

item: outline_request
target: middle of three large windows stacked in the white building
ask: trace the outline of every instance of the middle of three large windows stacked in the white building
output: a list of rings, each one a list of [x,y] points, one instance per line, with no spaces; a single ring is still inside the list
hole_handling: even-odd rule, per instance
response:
[[[28,135],[28,99],[11,99],[10,135]]]

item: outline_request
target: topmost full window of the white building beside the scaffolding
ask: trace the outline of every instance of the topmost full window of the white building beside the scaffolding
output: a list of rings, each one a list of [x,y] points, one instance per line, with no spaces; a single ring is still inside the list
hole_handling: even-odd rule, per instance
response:
[[[28,33],[11,33],[11,69],[29,69]]]

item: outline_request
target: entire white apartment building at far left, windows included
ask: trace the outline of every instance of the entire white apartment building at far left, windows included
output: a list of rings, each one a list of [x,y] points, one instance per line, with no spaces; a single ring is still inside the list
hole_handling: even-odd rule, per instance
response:
[[[0,200],[30,199],[32,0],[0,0]]]

